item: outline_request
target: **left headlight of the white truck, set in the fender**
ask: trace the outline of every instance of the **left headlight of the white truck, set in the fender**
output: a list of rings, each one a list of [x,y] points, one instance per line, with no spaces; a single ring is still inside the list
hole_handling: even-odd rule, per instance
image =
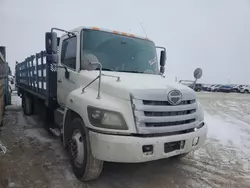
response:
[[[88,106],[90,123],[95,127],[127,130],[127,124],[119,112]]]

